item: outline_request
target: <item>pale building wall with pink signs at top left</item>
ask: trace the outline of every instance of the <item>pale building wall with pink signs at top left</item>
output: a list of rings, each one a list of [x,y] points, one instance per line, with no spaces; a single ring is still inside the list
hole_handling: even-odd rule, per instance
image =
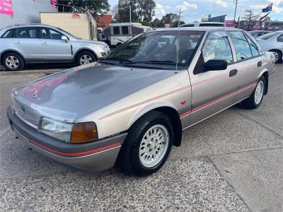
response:
[[[4,4],[5,2],[5,4]],[[55,0],[0,0],[0,28],[14,23],[40,23],[40,12],[57,12]]]

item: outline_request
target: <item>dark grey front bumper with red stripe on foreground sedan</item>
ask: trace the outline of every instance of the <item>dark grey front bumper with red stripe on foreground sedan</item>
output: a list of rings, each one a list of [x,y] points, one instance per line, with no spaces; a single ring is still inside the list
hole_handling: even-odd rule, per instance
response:
[[[64,143],[25,124],[13,114],[11,107],[7,109],[7,117],[16,136],[30,148],[59,163],[81,169],[101,171],[113,167],[127,136],[127,133],[122,133],[88,143]]]

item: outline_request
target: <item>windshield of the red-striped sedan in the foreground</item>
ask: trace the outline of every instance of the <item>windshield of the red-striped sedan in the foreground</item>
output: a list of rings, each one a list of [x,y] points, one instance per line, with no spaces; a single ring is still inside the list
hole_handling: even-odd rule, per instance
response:
[[[203,31],[193,30],[180,30],[180,34],[178,30],[143,33],[114,49],[100,62],[174,69],[178,61],[177,68],[184,69],[190,64],[203,35]]]

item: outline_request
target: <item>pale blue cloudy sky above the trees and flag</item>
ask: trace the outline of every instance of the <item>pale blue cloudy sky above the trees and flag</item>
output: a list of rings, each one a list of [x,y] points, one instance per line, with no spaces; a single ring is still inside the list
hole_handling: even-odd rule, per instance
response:
[[[110,0],[111,7],[118,4],[118,0]],[[227,15],[226,20],[233,20],[235,4],[233,0],[156,0],[155,17],[161,18],[166,13],[178,13],[181,6],[181,19],[185,23],[200,21],[200,18]],[[181,4],[182,2],[182,4]],[[236,20],[243,16],[246,9],[253,9],[255,13],[261,13],[262,8],[273,3],[271,19],[283,21],[283,0],[238,0]],[[154,17],[154,18],[155,18]]]

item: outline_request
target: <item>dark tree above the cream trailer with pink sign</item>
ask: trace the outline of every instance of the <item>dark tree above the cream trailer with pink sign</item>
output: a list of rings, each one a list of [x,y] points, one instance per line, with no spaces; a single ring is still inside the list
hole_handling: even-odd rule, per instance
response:
[[[91,11],[93,15],[104,14],[109,11],[108,0],[58,0],[59,12],[85,13]]]

